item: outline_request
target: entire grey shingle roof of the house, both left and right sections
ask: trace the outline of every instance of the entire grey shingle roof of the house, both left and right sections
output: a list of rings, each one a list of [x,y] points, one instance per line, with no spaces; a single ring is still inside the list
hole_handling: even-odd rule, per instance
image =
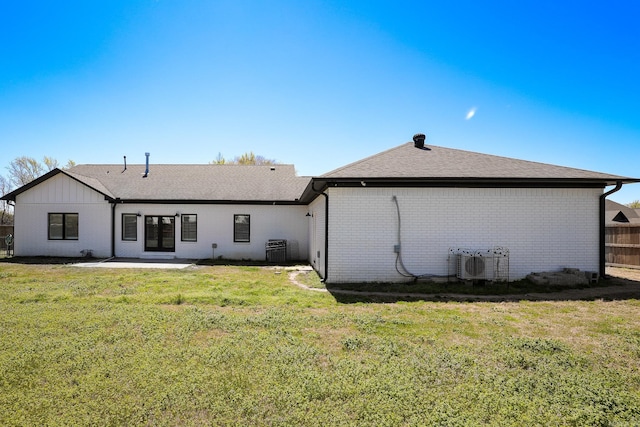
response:
[[[319,177],[299,177],[293,165],[78,165],[54,170],[3,196],[15,196],[33,185],[65,173],[122,200],[306,203],[326,185],[613,185],[639,179],[564,166],[408,142]],[[355,184],[354,184],[355,183]]]

